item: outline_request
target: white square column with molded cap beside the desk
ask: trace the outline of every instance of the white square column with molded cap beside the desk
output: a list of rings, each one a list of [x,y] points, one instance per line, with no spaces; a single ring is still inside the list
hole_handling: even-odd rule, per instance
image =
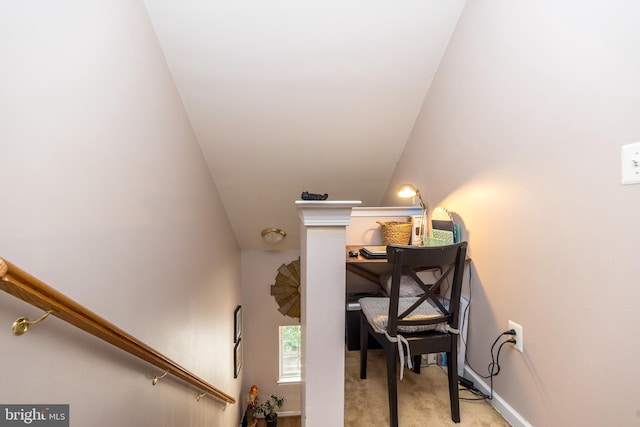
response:
[[[359,201],[296,201],[300,232],[302,426],[344,425],[345,245]]]

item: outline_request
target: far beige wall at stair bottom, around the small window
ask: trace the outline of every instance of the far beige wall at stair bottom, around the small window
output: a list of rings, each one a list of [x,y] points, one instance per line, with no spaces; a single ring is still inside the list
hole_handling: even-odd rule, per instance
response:
[[[295,207],[292,205],[292,209]],[[288,237],[287,237],[288,238]],[[299,412],[300,383],[278,384],[278,327],[299,325],[297,318],[284,316],[271,296],[278,268],[300,257],[299,251],[242,252],[243,381],[241,405],[246,407],[252,385],[260,390],[260,402],[271,394],[285,398],[283,412]]]

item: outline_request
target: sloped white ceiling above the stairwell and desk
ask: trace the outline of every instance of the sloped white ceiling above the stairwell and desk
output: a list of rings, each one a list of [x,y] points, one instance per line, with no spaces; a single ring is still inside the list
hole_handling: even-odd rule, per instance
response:
[[[303,191],[380,204],[464,6],[144,3],[243,250],[298,248]]]

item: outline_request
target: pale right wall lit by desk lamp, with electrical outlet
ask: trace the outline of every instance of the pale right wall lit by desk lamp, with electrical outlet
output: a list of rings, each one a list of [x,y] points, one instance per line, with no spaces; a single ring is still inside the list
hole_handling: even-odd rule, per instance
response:
[[[473,259],[468,357],[509,319],[495,387],[537,426],[635,425],[640,4],[470,1],[386,202],[409,181],[463,221]]]

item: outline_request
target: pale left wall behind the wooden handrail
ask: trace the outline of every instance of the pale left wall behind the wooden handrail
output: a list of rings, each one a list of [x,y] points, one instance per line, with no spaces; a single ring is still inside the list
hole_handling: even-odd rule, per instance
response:
[[[240,253],[141,2],[0,7],[0,256],[239,397]],[[237,425],[213,399],[0,293],[0,402],[72,425]]]

